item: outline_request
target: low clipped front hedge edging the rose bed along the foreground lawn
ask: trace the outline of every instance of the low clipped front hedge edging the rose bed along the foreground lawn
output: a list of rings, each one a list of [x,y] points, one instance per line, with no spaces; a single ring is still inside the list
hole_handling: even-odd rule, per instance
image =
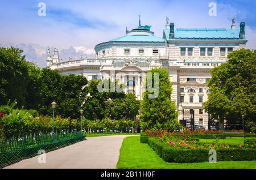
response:
[[[156,138],[148,138],[148,145],[167,162],[205,162],[209,159],[209,149],[175,149]],[[217,161],[255,161],[256,149],[217,150]]]

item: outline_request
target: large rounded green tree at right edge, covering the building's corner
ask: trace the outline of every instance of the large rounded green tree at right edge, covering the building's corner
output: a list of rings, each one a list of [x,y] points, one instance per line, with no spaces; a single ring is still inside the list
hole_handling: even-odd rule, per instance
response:
[[[214,119],[242,123],[256,119],[256,51],[240,49],[229,53],[228,61],[214,67],[209,81],[210,93],[204,109]]]

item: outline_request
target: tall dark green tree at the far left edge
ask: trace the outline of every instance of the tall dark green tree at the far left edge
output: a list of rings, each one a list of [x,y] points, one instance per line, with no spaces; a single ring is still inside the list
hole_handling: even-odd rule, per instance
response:
[[[9,100],[26,106],[28,63],[20,49],[0,47],[0,105]]]

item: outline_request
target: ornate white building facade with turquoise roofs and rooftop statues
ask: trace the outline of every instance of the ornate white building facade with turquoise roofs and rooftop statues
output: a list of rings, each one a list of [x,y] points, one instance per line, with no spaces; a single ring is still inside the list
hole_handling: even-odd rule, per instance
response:
[[[151,26],[141,25],[126,35],[102,42],[94,48],[95,59],[60,61],[57,49],[47,53],[47,66],[62,74],[77,74],[92,79],[116,79],[127,84],[142,100],[143,82],[151,68],[163,67],[170,74],[172,100],[176,102],[179,120],[192,119],[208,128],[208,114],[202,102],[207,101],[210,70],[224,63],[229,52],[245,48],[245,23],[236,29],[234,19],[230,29],[174,28],[166,20],[163,37],[157,37]]]

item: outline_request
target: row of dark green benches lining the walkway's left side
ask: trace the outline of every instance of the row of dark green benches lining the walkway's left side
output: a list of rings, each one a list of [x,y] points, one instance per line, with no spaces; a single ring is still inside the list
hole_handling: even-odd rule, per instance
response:
[[[26,139],[9,139],[8,141],[0,142],[0,168],[37,156],[39,155],[38,151],[41,149],[50,152],[84,139],[84,134],[69,133],[40,135],[35,138],[28,137]]]

